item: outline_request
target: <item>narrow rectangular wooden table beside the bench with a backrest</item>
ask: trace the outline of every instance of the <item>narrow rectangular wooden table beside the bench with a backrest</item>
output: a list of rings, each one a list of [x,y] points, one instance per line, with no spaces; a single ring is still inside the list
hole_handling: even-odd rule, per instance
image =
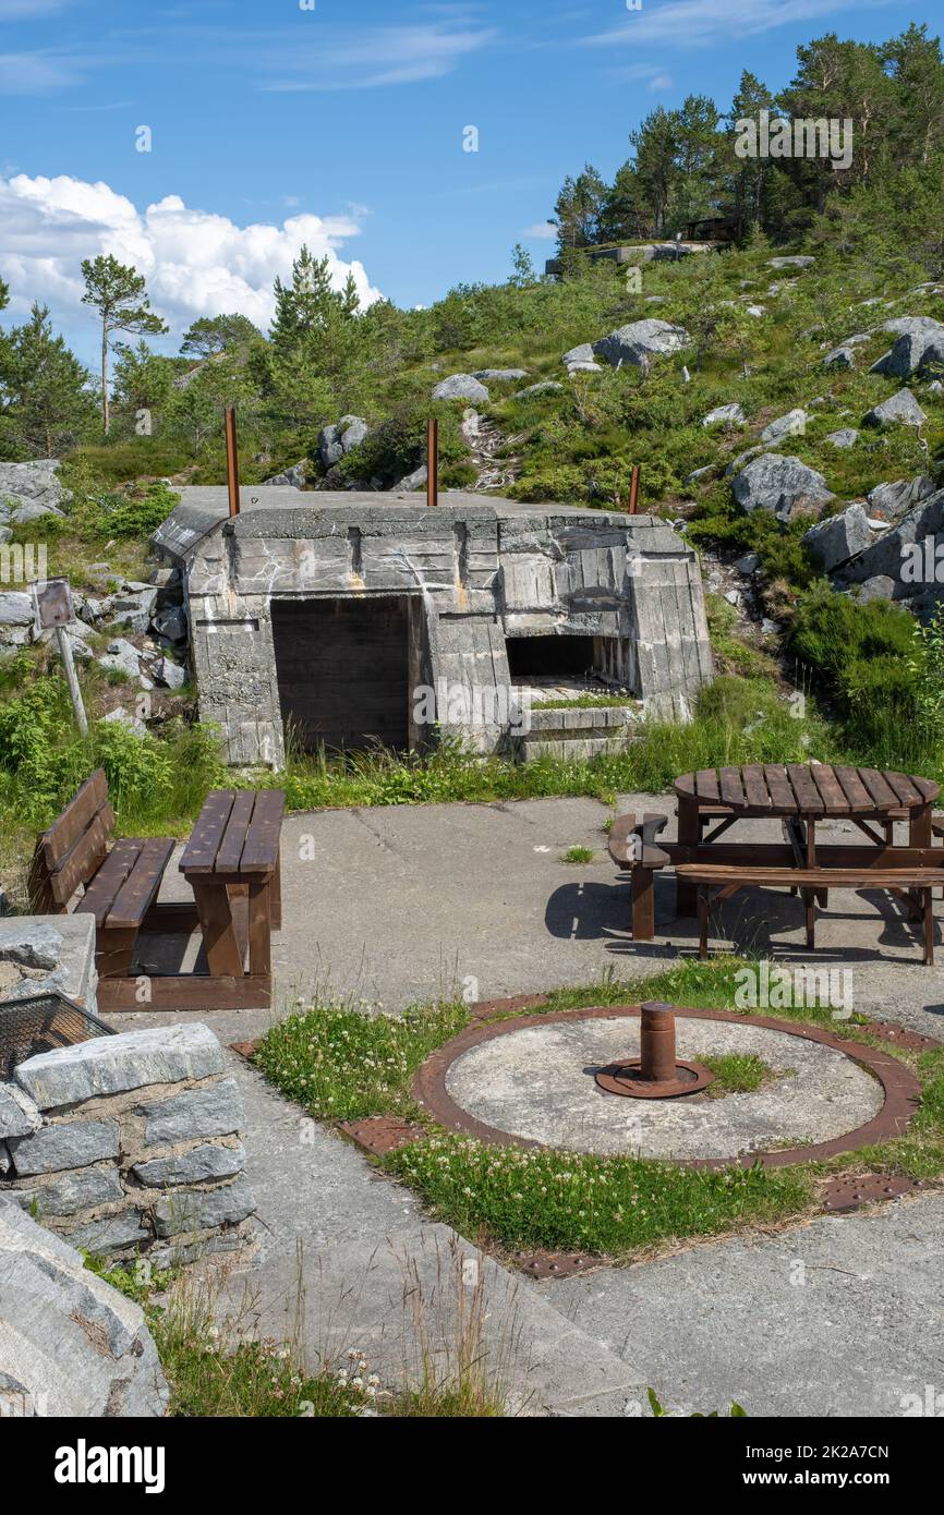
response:
[[[282,789],[212,789],[180,856],[220,1007],[233,1003],[235,989],[241,1004],[271,1003],[271,932],[282,924],[283,812]],[[244,915],[233,911],[236,900],[245,901]]]

